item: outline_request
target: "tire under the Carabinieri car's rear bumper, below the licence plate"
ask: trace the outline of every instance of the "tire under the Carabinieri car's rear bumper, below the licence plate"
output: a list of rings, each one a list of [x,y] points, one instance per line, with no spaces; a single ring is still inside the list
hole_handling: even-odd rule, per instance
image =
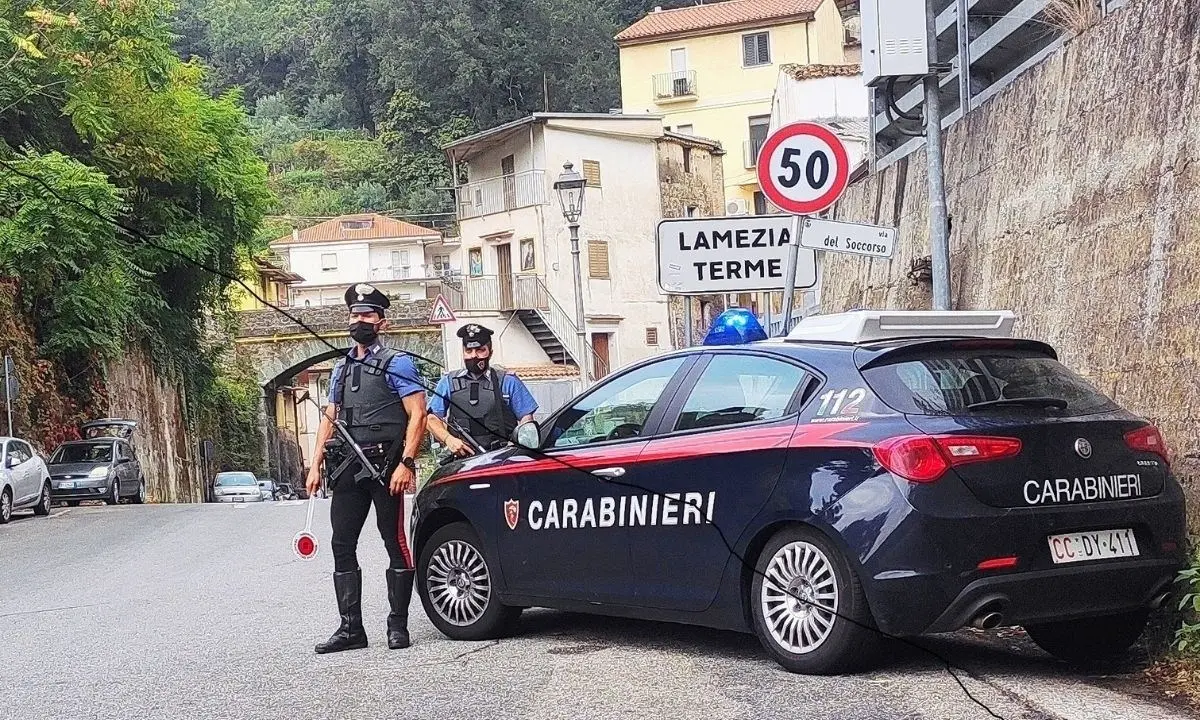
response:
[[[1025,632],[1039,648],[1064,662],[1100,665],[1124,655],[1141,637],[1148,619],[1148,610],[1135,610],[1115,616],[1026,625]]]

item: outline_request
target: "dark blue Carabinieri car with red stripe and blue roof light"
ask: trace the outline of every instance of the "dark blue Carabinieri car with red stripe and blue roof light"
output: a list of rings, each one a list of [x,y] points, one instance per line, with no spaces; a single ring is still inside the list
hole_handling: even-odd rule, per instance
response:
[[[752,631],[804,673],[968,625],[1118,655],[1183,565],[1182,490],[1154,426],[1013,324],[859,311],[728,344],[766,335],[722,317],[440,468],[425,610],[456,640],[534,606]]]

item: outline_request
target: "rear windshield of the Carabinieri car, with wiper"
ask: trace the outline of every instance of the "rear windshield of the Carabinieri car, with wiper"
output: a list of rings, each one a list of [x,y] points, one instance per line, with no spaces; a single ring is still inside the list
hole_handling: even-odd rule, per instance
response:
[[[931,352],[868,367],[863,377],[880,400],[913,415],[1076,416],[1117,409],[1061,362],[1031,352]]]

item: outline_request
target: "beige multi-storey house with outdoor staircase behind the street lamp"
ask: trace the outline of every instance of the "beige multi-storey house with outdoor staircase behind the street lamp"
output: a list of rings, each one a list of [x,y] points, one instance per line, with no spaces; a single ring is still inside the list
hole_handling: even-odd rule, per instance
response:
[[[690,188],[672,191],[680,214],[720,212],[715,143],[665,133],[659,115],[536,113],[445,152],[456,176],[467,176],[456,190],[464,276],[443,284],[457,316],[446,331],[448,359],[460,356],[454,332],[468,322],[496,331],[506,366],[575,370],[586,360],[593,378],[676,347],[670,304],[656,284],[655,229],[667,212],[664,187]],[[665,166],[664,154],[676,162]],[[570,232],[553,188],[566,162],[587,179],[580,220],[586,346]],[[662,181],[664,167],[678,174]],[[704,173],[709,179],[700,180]]]

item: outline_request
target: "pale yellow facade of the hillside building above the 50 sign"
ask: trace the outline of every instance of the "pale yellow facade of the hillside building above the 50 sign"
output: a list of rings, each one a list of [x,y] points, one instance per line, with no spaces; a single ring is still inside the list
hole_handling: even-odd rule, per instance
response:
[[[742,65],[742,36],[767,30],[770,64]],[[725,146],[727,199],[754,202],[757,182],[743,162],[750,139],[749,119],[770,114],[770,97],[779,66],[787,62],[840,64],[842,23],[832,0],[822,4],[815,22],[767,24],[697,37],[668,38],[620,48],[620,97],[626,113],[659,113],[672,130],[691,125],[697,136]],[[811,44],[810,44],[811,43]],[[672,72],[671,50],[686,48],[688,70],[696,71],[696,100],[655,102],[654,76]],[[751,205],[752,206],[752,205]]]

